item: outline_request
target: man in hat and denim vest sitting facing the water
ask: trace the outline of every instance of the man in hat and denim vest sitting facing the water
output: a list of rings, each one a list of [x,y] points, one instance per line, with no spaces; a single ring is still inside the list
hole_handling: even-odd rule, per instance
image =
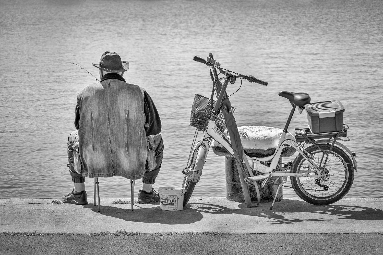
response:
[[[152,188],[162,164],[164,143],[157,109],[144,88],[125,82],[129,62],[106,51],[98,64],[100,82],[77,94],[75,127],[68,137],[69,173],[74,189],[63,203],[85,205],[85,177],[141,179],[138,203],[159,203]]]

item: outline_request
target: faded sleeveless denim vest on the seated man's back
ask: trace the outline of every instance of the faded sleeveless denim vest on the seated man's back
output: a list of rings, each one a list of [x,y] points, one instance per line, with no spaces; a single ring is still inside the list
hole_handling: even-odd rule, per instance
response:
[[[141,179],[147,157],[144,88],[108,79],[80,91],[77,104],[85,175]]]

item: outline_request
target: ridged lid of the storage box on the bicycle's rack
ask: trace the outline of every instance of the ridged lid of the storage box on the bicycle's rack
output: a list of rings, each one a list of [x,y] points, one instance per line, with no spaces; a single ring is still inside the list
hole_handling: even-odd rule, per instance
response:
[[[319,118],[335,117],[335,114],[344,112],[344,107],[340,101],[322,101],[306,105],[306,112],[309,116],[319,116]]]

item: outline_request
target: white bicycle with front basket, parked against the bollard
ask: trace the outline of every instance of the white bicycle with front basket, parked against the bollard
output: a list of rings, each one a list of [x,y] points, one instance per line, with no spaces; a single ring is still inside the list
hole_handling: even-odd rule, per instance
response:
[[[306,93],[281,91],[278,95],[288,99],[292,109],[274,154],[264,158],[254,158],[247,156],[246,151],[242,149],[241,153],[239,153],[242,154],[242,157],[238,158],[238,155],[236,155],[238,152],[233,150],[231,144],[233,141],[230,142],[224,134],[226,120],[223,114],[223,107],[225,106],[222,101],[227,97],[226,88],[229,82],[233,84],[237,79],[248,80],[264,86],[267,86],[267,82],[258,80],[251,75],[242,75],[221,68],[221,64],[213,59],[212,54],[206,60],[196,56],[194,56],[193,60],[210,66],[211,76],[214,81],[213,91],[215,89],[216,93],[219,94],[217,101],[213,101],[213,98],[208,99],[198,94],[195,95],[190,125],[196,127],[196,132],[187,167],[182,171],[185,174],[182,184],[182,187],[185,188],[184,206],[189,201],[196,183],[200,181],[202,169],[213,140],[221,144],[229,154],[236,158],[242,192],[248,208],[253,206],[249,187],[254,186],[257,192],[257,205],[259,205],[258,185],[264,187],[268,180],[273,177],[282,178],[282,182],[278,185],[270,209],[273,208],[278,191],[287,182],[288,176],[290,176],[292,188],[296,194],[304,201],[314,205],[329,205],[340,200],[349,192],[354,180],[354,170],[357,171],[355,152],[351,152],[346,146],[337,141],[349,141],[347,136],[349,126],[347,124],[343,124],[342,130],[337,132],[312,133],[309,128],[296,128],[296,139],[286,139],[287,129],[296,107],[299,107],[301,113],[305,109],[305,105],[310,103],[311,98]],[[217,70],[219,74],[224,75],[223,78],[218,78]],[[221,80],[224,80],[222,85]],[[232,114],[234,108],[227,110]],[[199,131],[203,131],[203,138],[200,141],[197,139]],[[284,146],[291,146],[299,154],[292,164],[290,162],[290,164],[284,164],[281,167],[278,161]],[[234,148],[237,147],[234,146]],[[257,184],[257,181],[259,184]]]

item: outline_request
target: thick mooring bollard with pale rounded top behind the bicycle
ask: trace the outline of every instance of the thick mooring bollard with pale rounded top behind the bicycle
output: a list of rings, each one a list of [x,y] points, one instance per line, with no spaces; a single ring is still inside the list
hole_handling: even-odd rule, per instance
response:
[[[241,136],[241,143],[244,151],[251,157],[260,158],[273,155],[277,148],[282,129],[264,126],[244,126],[238,127],[238,132]],[[224,134],[227,136],[227,131],[225,131]],[[286,139],[295,140],[295,137],[290,133],[287,133]],[[226,198],[228,200],[243,203],[245,200],[235,159],[216,141],[214,141],[212,148],[216,155],[225,157]],[[282,166],[282,157],[292,156],[294,153],[294,148],[290,146],[284,147],[279,160],[280,166]],[[253,174],[256,175],[257,173],[253,171]],[[262,181],[257,181],[260,199],[273,200],[278,185],[282,183],[282,177],[271,178],[263,188],[261,188],[261,183]],[[250,196],[253,201],[257,201],[257,192],[254,187],[250,187]],[[281,188],[275,201],[280,201],[282,199],[283,193]]]

